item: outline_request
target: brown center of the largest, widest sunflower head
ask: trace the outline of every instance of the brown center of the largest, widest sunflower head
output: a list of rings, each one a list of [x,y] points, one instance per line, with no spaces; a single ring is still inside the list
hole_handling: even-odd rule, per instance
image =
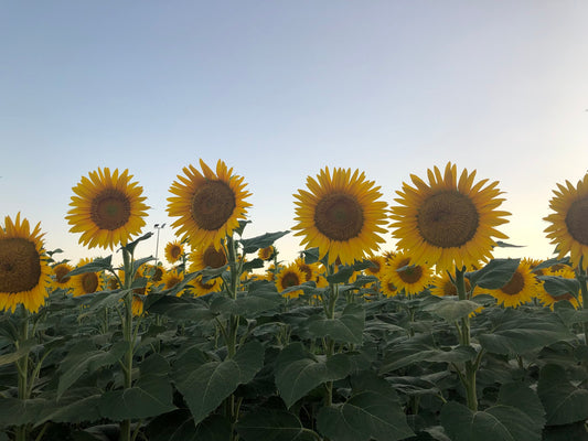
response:
[[[473,202],[458,191],[436,193],[423,202],[417,214],[423,238],[439,248],[461,247],[470,241],[479,226]]]

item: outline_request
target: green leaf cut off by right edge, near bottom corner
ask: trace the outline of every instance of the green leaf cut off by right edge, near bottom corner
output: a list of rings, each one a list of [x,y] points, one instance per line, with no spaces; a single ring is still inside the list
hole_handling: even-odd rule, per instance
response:
[[[548,426],[588,419],[588,390],[569,383],[562,366],[549,364],[541,369],[537,392],[547,412]]]

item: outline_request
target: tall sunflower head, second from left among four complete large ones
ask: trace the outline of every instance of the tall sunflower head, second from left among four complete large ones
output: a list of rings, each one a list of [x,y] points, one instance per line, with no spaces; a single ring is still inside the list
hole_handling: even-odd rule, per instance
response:
[[[238,228],[239,219],[245,218],[245,202],[250,193],[245,191],[247,184],[243,178],[233,174],[233,169],[218,160],[216,174],[200,160],[202,172],[193,165],[183,169],[185,176],[178,175],[170,186],[173,196],[168,197],[168,213],[179,217],[172,227],[185,235],[196,248],[214,245],[221,247],[221,240]]]

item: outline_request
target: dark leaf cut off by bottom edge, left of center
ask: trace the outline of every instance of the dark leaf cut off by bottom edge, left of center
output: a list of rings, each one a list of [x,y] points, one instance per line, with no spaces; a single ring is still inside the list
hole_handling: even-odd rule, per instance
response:
[[[293,413],[278,409],[257,409],[239,419],[236,426],[245,441],[313,441],[317,438],[304,429]]]

